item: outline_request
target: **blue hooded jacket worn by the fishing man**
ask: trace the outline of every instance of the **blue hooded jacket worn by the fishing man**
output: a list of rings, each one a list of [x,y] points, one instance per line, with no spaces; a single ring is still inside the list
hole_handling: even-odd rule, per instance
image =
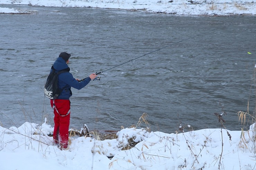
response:
[[[57,58],[57,60],[53,64],[53,67],[56,70],[56,72],[68,68],[67,63],[61,57]],[[72,96],[71,87],[80,90],[83,87],[85,87],[90,81],[91,78],[87,77],[85,80],[79,82],[73,77],[73,75],[70,72],[61,73],[60,75],[58,75],[58,88],[65,88],[61,92],[58,99],[69,100],[69,98]]]

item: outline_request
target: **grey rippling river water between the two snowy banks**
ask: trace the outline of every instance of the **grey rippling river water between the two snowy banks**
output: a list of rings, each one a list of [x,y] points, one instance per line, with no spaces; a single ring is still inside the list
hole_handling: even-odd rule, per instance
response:
[[[63,51],[72,54],[69,67],[80,79],[147,54],[73,89],[70,128],[86,123],[90,130],[120,130],[136,125],[144,112],[153,131],[173,133],[180,124],[220,128],[214,113],[223,108],[225,127],[240,130],[236,113],[247,111],[248,100],[249,113],[254,112],[255,16],[1,7],[34,11],[0,14],[0,121],[5,127],[42,124],[45,117],[53,126],[44,83]]]

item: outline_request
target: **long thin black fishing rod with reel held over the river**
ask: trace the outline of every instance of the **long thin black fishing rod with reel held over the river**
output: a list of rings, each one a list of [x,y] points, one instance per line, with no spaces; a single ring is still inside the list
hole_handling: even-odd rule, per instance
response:
[[[226,26],[221,27],[221,28],[225,28],[225,27],[226,27]],[[198,35],[195,35],[195,36],[193,36],[193,37],[189,37],[189,38],[186,38],[186,39],[184,39],[184,40],[181,40],[181,41],[172,43],[172,44],[170,44],[170,45],[168,45],[168,46],[165,46],[165,47],[163,47],[163,48],[159,48],[159,49],[157,49],[157,50],[151,51],[151,52],[146,53],[146,54],[144,54],[144,55],[142,55],[142,56],[139,56],[139,57],[136,57],[136,58],[131,59],[131,60],[129,60],[129,61],[126,61],[126,62],[124,62],[124,63],[121,63],[121,64],[119,64],[119,65],[117,65],[117,66],[111,67],[111,68],[109,68],[109,69],[107,69],[107,70],[100,71],[100,72],[98,72],[98,73],[96,72],[95,75],[99,75],[99,74],[101,74],[101,73],[103,73],[103,72],[106,72],[106,71],[111,70],[111,69],[113,69],[113,68],[119,67],[119,66],[121,66],[121,65],[123,65],[123,64],[126,64],[126,63],[128,63],[128,62],[130,62],[130,61],[136,60],[136,59],[138,59],[138,58],[144,57],[144,56],[146,56],[146,55],[148,55],[148,54],[151,54],[151,53],[153,53],[153,52],[156,52],[156,51],[162,50],[162,49],[164,49],[164,48],[173,46],[174,44],[180,43],[180,42],[182,42],[182,41],[186,41],[186,40],[188,40],[188,39],[191,39],[191,38],[194,38],[194,37],[197,37],[197,36],[201,36],[202,34],[209,33],[209,32],[212,32],[212,31],[221,29],[221,28],[216,28],[216,29],[213,29],[213,30],[210,30],[210,31],[207,31],[207,32],[203,32],[203,33],[198,34]],[[85,78],[84,78],[84,79],[85,79]],[[82,79],[82,80],[80,80],[80,81],[83,81],[84,79]],[[100,80],[100,79],[101,79],[100,76],[97,76],[94,80]],[[93,80],[93,81],[94,81],[94,80]]]

